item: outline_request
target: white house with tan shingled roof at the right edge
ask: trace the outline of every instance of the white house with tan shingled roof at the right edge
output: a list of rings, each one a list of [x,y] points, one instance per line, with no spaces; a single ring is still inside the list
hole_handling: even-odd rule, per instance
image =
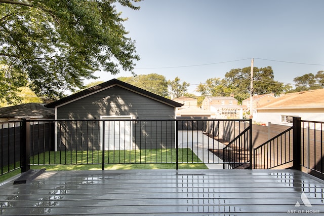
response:
[[[293,117],[324,122],[324,89],[282,95],[257,107],[256,121],[268,125],[293,125]]]

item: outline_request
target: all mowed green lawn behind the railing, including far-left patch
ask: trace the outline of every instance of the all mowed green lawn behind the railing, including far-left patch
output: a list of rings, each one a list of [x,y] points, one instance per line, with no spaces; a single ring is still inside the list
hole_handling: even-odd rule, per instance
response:
[[[101,170],[102,151],[45,152],[30,158],[31,169]],[[115,150],[104,152],[105,169],[176,169],[176,149]],[[179,169],[207,169],[191,151],[178,149]],[[8,167],[4,167],[4,170]],[[11,168],[10,168],[11,169]],[[20,169],[0,176],[0,182]]]

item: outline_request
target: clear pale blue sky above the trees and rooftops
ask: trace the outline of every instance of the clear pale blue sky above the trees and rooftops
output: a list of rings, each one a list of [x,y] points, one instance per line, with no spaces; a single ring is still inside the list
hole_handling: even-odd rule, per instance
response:
[[[194,84],[251,66],[251,58],[256,67],[271,66],[274,79],[284,83],[324,70],[323,0],[144,0],[136,5],[139,11],[117,7],[129,18],[124,26],[141,57],[134,72],[168,80],[178,76],[192,85],[190,93]],[[131,73],[99,76],[107,81]]]

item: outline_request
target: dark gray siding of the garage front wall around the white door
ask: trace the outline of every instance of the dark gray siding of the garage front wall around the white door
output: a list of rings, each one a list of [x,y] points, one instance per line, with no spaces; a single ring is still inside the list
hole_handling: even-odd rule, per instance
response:
[[[175,107],[114,86],[57,108],[57,119],[99,120],[100,116],[132,116],[133,149],[173,148]],[[98,150],[100,124],[88,131],[85,123],[66,122],[57,127],[58,149]],[[85,133],[85,131],[88,131]]]

